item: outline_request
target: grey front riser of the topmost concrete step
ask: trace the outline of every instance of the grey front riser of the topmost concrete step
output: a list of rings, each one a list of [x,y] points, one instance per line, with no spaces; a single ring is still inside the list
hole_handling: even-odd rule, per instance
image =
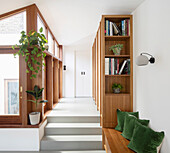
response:
[[[48,123],[100,123],[100,116],[47,116]]]

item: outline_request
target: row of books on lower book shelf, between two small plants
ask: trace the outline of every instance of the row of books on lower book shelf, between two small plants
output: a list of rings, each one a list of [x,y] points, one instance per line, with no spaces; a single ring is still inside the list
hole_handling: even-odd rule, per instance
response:
[[[130,59],[105,58],[105,75],[130,74]]]

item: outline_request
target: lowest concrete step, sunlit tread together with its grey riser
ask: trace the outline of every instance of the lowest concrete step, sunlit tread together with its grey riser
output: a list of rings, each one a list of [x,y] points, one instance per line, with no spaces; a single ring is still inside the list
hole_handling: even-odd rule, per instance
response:
[[[44,136],[41,141],[41,150],[102,150],[102,135]]]

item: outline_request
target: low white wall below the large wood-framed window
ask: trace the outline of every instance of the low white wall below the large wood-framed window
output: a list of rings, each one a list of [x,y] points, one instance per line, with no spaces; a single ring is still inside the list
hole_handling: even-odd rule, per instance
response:
[[[40,128],[1,128],[0,152],[39,151],[46,124],[47,120]]]

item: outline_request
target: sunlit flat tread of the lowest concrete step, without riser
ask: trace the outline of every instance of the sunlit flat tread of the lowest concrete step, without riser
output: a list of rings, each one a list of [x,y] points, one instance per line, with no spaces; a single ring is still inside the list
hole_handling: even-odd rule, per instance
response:
[[[42,141],[102,141],[102,135],[52,135]]]

